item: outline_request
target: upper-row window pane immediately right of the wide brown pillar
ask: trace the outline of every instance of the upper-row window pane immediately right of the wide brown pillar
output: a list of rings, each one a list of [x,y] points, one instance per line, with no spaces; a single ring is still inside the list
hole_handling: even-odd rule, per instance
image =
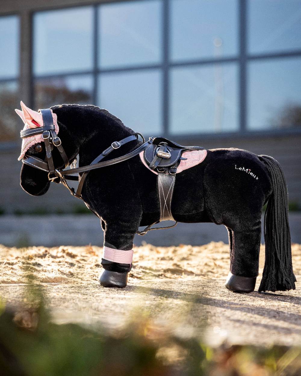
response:
[[[33,18],[33,71],[64,73],[92,68],[93,9],[38,12]]]

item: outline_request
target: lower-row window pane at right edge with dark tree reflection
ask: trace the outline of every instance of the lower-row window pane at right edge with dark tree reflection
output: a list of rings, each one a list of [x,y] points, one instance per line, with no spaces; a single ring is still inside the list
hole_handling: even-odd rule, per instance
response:
[[[301,58],[249,63],[248,127],[301,126]]]

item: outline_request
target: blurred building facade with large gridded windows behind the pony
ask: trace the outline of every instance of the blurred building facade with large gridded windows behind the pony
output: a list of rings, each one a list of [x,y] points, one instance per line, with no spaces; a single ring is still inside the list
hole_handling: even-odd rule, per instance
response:
[[[20,100],[93,103],[145,136],[271,155],[300,205],[300,32],[299,0],[0,1],[0,210],[81,205],[59,185],[21,190]]]

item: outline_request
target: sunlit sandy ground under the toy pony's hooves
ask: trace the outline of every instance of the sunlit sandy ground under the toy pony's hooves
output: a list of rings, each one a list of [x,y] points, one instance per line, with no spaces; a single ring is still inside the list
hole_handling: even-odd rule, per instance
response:
[[[293,267],[301,279],[301,245],[292,245]],[[125,289],[103,288],[102,249],[95,246],[8,248],[0,246],[0,296],[24,299],[26,274],[43,286],[58,323],[102,324],[109,330],[148,315],[183,337],[205,335],[208,343],[301,344],[301,287],[278,293],[235,294],[224,287],[228,244],[134,248]],[[260,252],[259,286],[264,264]]]

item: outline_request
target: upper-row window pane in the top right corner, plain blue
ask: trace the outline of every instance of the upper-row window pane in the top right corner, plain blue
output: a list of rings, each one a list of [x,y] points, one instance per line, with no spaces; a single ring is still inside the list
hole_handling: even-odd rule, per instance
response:
[[[252,0],[248,9],[250,52],[301,49],[300,0]]]

